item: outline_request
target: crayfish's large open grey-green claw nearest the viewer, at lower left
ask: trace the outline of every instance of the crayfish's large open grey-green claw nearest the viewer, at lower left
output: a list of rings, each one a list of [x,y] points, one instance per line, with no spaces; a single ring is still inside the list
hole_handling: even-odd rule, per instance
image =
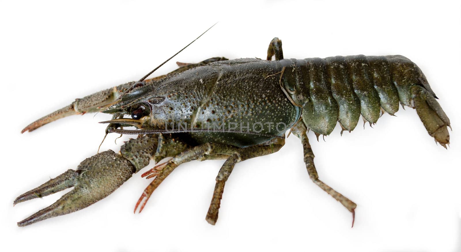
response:
[[[67,170],[14,200],[14,204],[17,204],[74,187],[52,205],[18,222],[18,226],[27,226],[92,205],[115,191],[134,172],[134,166],[127,159],[110,150],[87,158],[78,165],[77,170]]]

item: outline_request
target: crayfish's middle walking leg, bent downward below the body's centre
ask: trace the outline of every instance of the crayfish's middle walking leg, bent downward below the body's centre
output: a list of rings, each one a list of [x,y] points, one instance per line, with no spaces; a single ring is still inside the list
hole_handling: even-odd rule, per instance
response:
[[[284,139],[274,139],[266,145],[259,145],[247,148],[241,148],[234,152],[231,157],[227,158],[221,169],[219,170],[218,176],[216,177],[216,185],[214,187],[213,198],[211,200],[210,208],[208,209],[206,220],[208,223],[214,225],[218,220],[219,206],[224,191],[224,186],[231,175],[234,165],[243,160],[249,158],[255,158],[272,154],[277,152],[284,145]]]

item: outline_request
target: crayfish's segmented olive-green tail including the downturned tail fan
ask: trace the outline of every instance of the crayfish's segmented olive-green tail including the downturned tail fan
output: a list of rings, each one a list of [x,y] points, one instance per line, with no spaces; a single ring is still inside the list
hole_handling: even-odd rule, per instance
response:
[[[336,56],[283,59],[281,81],[302,106],[302,120],[316,135],[329,135],[340,123],[355,129],[361,115],[376,123],[381,112],[393,115],[402,106],[416,109],[429,135],[446,148],[450,121],[426,76],[402,55]]]

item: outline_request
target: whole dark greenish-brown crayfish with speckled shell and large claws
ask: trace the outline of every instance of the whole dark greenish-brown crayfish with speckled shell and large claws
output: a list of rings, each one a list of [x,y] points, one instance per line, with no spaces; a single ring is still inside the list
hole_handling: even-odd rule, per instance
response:
[[[175,54],[176,55],[176,54]],[[275,60],[272,60],[272,58]],[[171,59],[171,58],[170,58]],[[20,195],[14,204],[74,187],[61,199],[19,222],[19,226],[68,214],[105,198],[153,159],[172,157],[142,174],[154,178],[138,200],[147,199],[180,164],[191,160],[225,159],[216,177],[206,215],[218,219],[226,180],[235,164],[277,152],[285,133],[296,135],[304,149],[311,180],[353,215],[356,204],[319,179],[308,130],[329,135],[339,122],[352,131],[359,117],[376,123],[399,105],[416,110],[427,132],[446,148],[449,118],[420,68],[400,56],[336,56],[284,59],[282,42],[274,38],[267,58],[216,57],[180,67],[165,76],[121,84],[42,117],[25,127],[32,131],[56,119],[100,111],[112,115],[106,134],[134,134],[120,152],[100,152],[76,170]],[[149,73],[150,74],[150,73]],[[135,127],[136,129],[125,129]]]

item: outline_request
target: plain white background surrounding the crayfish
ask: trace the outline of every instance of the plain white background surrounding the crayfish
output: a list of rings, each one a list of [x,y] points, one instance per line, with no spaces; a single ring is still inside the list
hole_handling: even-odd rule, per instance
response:
[[[307,175],[302,147],[237,164],[216,226],[204,219],[223,161],[182,164],[142,214],[149,181],[134,175],[84,210],[25,228],[16,222],[63,192],[12,207],[19,194],[96,153],[107,115],[72,116],[19,131],[75,98],[139,79],[165,64],[214,56],[285,58],[402,54],[424,71],[451,119],[448,150],[413,109],[325,141],[310,133],[320,178],[357,203],[351,214]],[[459,1],[1,1],[0,246],[3,251],[461,251]],[[361,124],[361,123],[360,123]],[[102,150],[122,141],[106,139]],[[126,140],[128,137],[124,137]],[[147,170],[147,169],[145,169]]]

